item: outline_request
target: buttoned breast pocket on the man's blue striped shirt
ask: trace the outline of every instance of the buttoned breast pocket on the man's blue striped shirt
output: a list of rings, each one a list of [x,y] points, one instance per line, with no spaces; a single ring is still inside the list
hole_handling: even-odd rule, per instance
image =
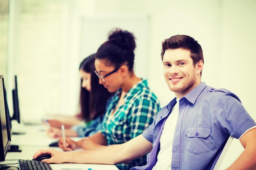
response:
[[[186,150],[200,154],[210,150],[211,128],[191,127],[186,128]]]

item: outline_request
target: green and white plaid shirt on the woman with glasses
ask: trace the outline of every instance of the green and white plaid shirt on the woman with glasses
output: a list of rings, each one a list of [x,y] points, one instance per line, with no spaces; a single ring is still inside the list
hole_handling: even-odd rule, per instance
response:
[[[119,101],[122,90],[119,89],[108,102],[106,115],[103,118],[100,131],[107,139],[108,145],[122,144],[140,135],[152,122],[158,113],[160,103],[149,89],[147,80],[142,80],[132,86],[124,96],[121,105],[114,115],[111,115]],[[127,164],[117,164],[120,170],[130,170],[134,166],[146,164],[146,155]]]

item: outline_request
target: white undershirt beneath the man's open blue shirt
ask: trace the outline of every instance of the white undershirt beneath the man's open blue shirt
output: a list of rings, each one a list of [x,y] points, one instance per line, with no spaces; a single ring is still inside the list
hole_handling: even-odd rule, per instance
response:
[[[160,137],[160,151],[157,155],[157,163],[152,170],[171,170],[173,155],[173,137],[179,115],[179,99],[167,118],[162,135]]]

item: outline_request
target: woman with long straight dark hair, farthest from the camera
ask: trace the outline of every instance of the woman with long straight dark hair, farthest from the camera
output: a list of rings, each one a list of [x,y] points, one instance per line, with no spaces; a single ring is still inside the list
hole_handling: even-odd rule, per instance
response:
[[[82,121],[78,125],[65,128],[65,135],[68,137],[88,137],[97,132],[97,127],[100,127],[106,113],[107,100],[114,94],[99,84],[99,78],[94,73],[94,55],[86,57],[79,66],[81,76],[79,117]],[[52,120],[48,121],[51,124]],[[47,130],[47,134],[51,138],[61,137],[61,128],[51,127]]]

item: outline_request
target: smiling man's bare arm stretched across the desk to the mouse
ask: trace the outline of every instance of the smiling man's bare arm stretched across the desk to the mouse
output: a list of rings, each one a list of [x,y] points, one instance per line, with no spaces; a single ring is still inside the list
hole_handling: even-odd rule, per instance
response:
[[[146,155],[152,150],[152,143],[147,141],[142,135],[139,135],[124,144],[106,146],[98,150],[59,152],[53,149],[39,150],[33,156],[48,153],[52,157],[44,159],[47,163],[101,163],[116,164],[126,163],[142,155]]]

